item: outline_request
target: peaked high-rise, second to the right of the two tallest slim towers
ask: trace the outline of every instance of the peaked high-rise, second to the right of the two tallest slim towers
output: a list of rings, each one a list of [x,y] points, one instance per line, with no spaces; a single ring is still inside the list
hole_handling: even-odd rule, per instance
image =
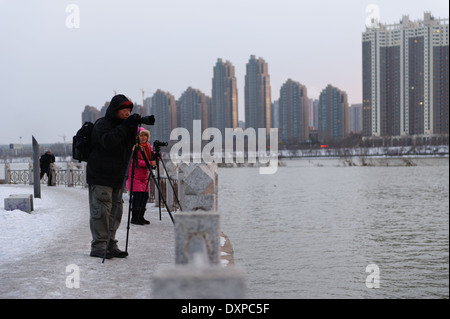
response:
[[[330,84],[319,97],[318,135],[323,142],[349,133],[347,93]]]

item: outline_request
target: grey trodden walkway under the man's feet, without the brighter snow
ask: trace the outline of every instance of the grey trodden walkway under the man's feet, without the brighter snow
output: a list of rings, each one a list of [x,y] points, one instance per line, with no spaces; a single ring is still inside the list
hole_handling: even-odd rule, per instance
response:
[[[64,193],[71,196],[67,188]],[[72,199],[68,198],[68,202]],[[43,243],[42,249],[20,260],[0,264],[0,298],[151,298],[155,269],[175,262],[174,226],[168,213],[163,210],[162,220],[159,220],[158,208],[149,203],[146,218],[151,224],[130,225],[129,256],[102,263],[101,258],[89,256],[91,234],[87,202],[82,210],[74,212],[79,217],[74,218],[73,225],[58,240]],[[128,205],[125,204],[117,232],[122,250],[126,242],[127,214]],[[232,264],[229,240],[223,250],[227,252],[223,258]],[[79,269],[79,288],[71,288],[76,274],[74,269]]]

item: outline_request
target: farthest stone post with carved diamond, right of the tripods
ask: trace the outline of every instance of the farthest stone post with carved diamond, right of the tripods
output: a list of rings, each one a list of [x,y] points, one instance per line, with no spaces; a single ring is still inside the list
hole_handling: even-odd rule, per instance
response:
[[[217,164],[182,164],[179,166],[178,183],[183,211],[218,209]]]

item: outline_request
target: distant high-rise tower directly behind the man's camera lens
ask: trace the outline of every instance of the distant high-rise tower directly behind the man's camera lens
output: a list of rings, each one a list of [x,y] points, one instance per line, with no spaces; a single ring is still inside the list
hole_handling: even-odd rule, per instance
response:
[[[155,125],[151,128],[151,140],[170,141],[170,133],[177,127],[177,106],[172,94],[157,90],[152,96],[152,112]]]

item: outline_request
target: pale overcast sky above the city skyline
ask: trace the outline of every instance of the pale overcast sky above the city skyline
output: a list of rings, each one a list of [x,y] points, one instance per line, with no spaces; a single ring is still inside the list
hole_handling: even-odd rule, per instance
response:
[[[361,103],[369,4],[387,24],[449,16],[447,0],[0,0],[0,144],[71,141],[85,105],[114,90],[139,104],[141,89],[211,96],[218,58],[235,66],[240,120],[250,55],[269,65],[272,100],[291,78],[310,98],[331,84]]]

